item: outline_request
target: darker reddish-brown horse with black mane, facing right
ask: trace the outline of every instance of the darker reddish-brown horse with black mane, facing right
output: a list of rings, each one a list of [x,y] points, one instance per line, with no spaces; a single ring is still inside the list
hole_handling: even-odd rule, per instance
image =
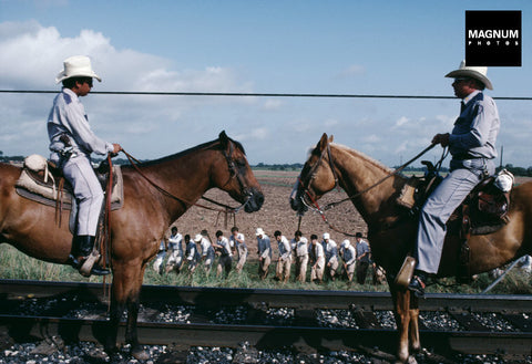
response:
[[[244,204],[246,212],[260,209],[264,195],[242,145],[219,138],[165,158],[122,167],[124,205],[111,214],[113,272],[110,332],[105,350],[116,352],[119,322],[127,309],[125,341],[131,354],[147,358],[139,344],[136,320],[144,270],[156,254],[167,227],[209,188],[217,187]],[[54,208],[20,197],[14,189],[21,168],[0,164],[0,241],[54,263],[66,263],[72,235],[55,221]],[[68,212],[63,212],[68,221]]]

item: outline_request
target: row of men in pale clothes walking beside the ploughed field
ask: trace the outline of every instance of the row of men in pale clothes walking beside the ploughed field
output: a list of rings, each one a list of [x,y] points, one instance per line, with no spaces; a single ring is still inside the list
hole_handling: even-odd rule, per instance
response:
[[[258,277],[265,280],[269,273],[269,266],[273,262],[274,249],[268,235],[257,228],[255,232],[257,239],[258,256]],[[190,235],[184,237],[174,226],[167,243],[161,242],[160,252],[153,263],[153,268],[158,273],[168,273],[171,271],[181,272],[184,267],[193,273],[198,266],[203,266],[205,272],[209,272],[216,260],[216,252],[219,258],[216,263],[216,275],[225,272],[227,277],[233,268],[235,258],[237,272],[241,272],[248,257],[248,248],[245,237],[233,227],[231,236],[224,237],[222,230],[216,231],[215,240],[211,241],[208,233],[204,230],[197,233],[194,239]],[[318,236],[313,233],[310,242],[297,230],[294,238],[288,240],[279,230],[274,232],[274,239],[277,241],[277,257],[275,267],[275,279],[287,282],[290,278],[291,266],[295,264],[295,280],[305,282],[307,280],[307,269],[310,268],[310,281],[321,283],[324,278],[335,281],[345,277],[349,282],[356,278],[359,284],[366,282],[370,261],[370,249],[368,242],[360,232],[356,233],[354,245],[345,239],[340,246],[330,239],[330,235],[325,232],[321,241]],[[183,248],[184,246],[184,248]],[[167,256],[166,263],[163,264]],[[374,272],[378,268],[374,267]],[[381,274],[382,275],[382,274]],[[374,283],[376,283],[374,278]]]

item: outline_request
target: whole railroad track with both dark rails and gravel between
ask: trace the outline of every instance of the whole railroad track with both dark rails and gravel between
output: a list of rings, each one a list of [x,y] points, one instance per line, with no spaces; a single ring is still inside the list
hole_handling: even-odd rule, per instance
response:
[[[105,291],[99,283],[0,280],[0,333],[21,342],[53,335],[101,342]],[[378,345],[393,353],[397,342],[391,298],[383,292],[144,285],[141,303],[139,339],[147,345],[236,347],[245,341],[258,349]],[[420,310],[421,342],[436,353],[532,354],[530,295],[428,294]],[[452,324],[434,327],[434,320]]]

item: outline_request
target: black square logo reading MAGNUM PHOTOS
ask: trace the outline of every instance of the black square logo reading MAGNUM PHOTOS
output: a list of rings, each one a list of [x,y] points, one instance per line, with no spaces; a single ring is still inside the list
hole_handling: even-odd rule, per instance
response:
[[[466,11],[466,64],[521,66],[521,11]]]

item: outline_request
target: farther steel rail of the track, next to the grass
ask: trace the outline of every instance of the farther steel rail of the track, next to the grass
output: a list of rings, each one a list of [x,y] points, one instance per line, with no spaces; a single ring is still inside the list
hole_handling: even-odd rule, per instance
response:
[[[33,280],[0,280],[0,297],[24,298],[78,294],[88,300],[104,301],[102,283],[43,282]],[[520,294],[454,294],[428,293],[420,300],[422,311],[475,311],[475,312],[524,312],[532,313],[532,295]],[[319,291],[319,290],[272,290],[193,288],[175,285],[143,285],[141,302],[168,302],[205,306],[263,304],[270,308],[295,308],[301,310],[341,310],[356,305],[361,310],[392,310],[389,292]]]

